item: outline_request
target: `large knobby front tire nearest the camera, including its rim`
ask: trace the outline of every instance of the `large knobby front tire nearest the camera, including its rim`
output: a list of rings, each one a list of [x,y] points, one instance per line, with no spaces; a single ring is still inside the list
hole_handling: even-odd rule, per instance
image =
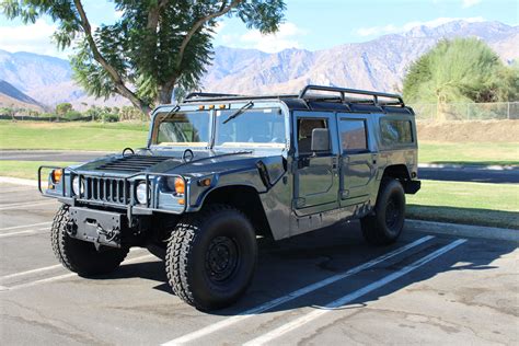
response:
[[[245,292],[256,258],[256,234],[246,216],[230,206],[211,205],[177,223],[165,269],[178,298],[209,311],[229,307]]]

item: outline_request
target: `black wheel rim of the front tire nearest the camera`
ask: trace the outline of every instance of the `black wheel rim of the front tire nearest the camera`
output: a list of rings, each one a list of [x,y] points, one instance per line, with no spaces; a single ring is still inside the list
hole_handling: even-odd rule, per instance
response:
[[[206,253],[206,273],[212,282],[229,279],[237,270],[238,263],[239,251],[233,239],[217,237],[211,241]]]

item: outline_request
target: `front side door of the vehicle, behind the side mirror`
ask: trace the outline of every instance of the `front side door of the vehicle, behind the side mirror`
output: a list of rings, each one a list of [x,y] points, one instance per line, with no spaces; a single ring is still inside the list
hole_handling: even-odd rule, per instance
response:
[[[314,214],[338,205],[338,143],[335,115],[296,112],[293,134],[297,134],[295,162],[295,208],[298,215]],[[328,129],[328,150],[312,151],[314,129]]]

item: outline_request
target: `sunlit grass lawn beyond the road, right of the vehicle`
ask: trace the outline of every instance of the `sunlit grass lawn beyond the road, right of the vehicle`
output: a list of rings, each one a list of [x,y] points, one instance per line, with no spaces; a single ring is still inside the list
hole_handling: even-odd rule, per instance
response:
[[[420,163],[519,164],[518,142],[418,141]]]

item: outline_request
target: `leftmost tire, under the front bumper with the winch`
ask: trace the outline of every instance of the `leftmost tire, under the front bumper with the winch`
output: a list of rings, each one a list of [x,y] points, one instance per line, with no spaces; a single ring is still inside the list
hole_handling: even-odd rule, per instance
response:
[[[125,260],[129,249],[103,246],[99,252],[93,243],[71,238],[66,230],[69,206],[59,207],[50,228],[53,251],[59,262],[80,276],[108,274]]]

